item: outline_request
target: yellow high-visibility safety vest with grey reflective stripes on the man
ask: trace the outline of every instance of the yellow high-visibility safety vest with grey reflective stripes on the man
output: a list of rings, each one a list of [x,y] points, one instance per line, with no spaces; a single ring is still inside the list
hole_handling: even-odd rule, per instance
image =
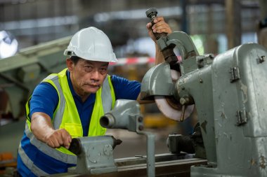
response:
[[[70,87],[67,82],[67,69],[60,71],[60,73],[53,73],[46,77],[42,82],[50,83],[58,92],[58,106],[53,113],[52,123],[55,129],[66,129],[67,132],[75,137],[83,136],[82,123],[79,118],[79,113],[75,106]],[[42,153],[64,162],[67,164],[77,164],[77,156],[71,153],[64,147],[51,148],[39,141],[30,129],[30,99],[26,104],[27,120],[25,124],[25,134],[30,139],[30,143],[36,146]],[[100,125],[100,117],[104,113],[110,111],[115,105],[115,92],[113,90],[110,76],[107,75],[103,85],[96,92],[96,101],[93,106],[93,113],[91,115],[91,121],[89,126],[88,136],[101,136],[105,134],[106,129]],[[48,175],[45,171],[39,169],[34,165],[34,162],[27,156],[21,144],[18,149],[18,153],[22,159],[22,162],[29,168],[32,173],[37,176]]]

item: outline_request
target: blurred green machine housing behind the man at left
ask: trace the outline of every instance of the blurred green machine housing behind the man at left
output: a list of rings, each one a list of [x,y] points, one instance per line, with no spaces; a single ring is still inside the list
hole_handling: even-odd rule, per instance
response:
[[[0,59],[0,94],[8,98],[7,109],[13,119],[25,116],[25,103],[41,80],[66,67],[63,52],[70,38],[34,45],[15,56]],[[3,102],[6,100],[1,99],[0,104],[6,104]]]

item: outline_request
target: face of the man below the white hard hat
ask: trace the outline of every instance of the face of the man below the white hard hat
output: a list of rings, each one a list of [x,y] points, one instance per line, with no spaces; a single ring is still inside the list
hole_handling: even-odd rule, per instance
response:
[[[74,64],[67,59],[67,66],[74,90],[81,97],[96,93],[108,73],[108,62],[79,59],[77,64]]]

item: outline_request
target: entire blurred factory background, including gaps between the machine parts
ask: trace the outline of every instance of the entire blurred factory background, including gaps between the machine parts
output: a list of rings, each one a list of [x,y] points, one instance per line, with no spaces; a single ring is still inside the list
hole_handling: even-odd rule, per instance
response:
[[[173,31],[189,34],[200,55],[257,43],[259,30],[267,25],[266,0],[0,0],[0,60],[94,26],[110,37],[118,59],[136,58],[132,64],[110,66],[110,72],[141,81],[153,64],[138,62],[138,58],[155,57],[154,43],[145,27],[149,22],[145,10],[150,7],[157,8]],[[11,152],[15,157],[24,125],[13,123],[25,117],[13,118],[4,87],[7,85],[0,83],[0,138],[4,139],[0,153]],[[167,152],[165,136],[170,132],[192,131],[193,118],[178,123],[164,118],[155,104],[141,108],[146,128],[158,135],[156,153]],[[145,139],[139,135],[124,130],[108,133],[124,141],[115,149],[115,157],[145,154]]]

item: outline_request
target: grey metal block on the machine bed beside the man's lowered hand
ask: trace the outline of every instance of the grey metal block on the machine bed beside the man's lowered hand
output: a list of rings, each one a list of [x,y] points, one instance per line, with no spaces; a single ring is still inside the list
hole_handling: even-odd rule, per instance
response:
[[[70,151],[77,155],[77,166],[70,167],[68,172],[70,174],[104,174],[117,171],[113,157],[113,148],[117,142],[118,140],[113,136],[72,139]]]

